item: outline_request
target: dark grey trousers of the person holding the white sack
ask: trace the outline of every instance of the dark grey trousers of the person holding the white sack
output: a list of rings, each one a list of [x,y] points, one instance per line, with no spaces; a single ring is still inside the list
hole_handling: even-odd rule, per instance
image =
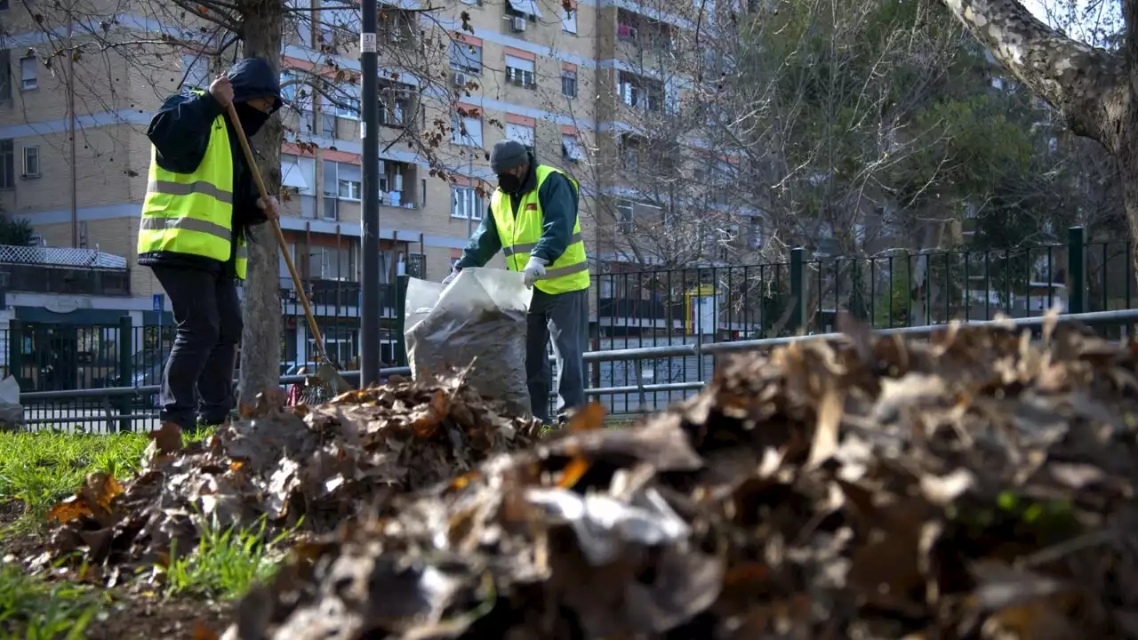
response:
[[[546,294],[534,289],[526,322],[526,378],[534,417],[550,422],[550,356],[558,363],[558,416],[585,404],[585,345],[588,343],[588,289]]]

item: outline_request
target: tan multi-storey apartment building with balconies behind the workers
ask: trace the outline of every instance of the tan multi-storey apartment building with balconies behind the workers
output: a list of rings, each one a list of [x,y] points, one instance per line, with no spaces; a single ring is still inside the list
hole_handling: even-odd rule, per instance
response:
[[[27,220],[36,244],[72,249],[71,262],[92,256],[121,265],[112,268],[118,278],[88,278],[58,290],[19,292],[9,284],[7,302],[14,317],[35,322],[113,325],[125,312],[150,326],[159,321],[162,288],[134,255],[150,159],[145,129],[165,96],[206,87],[233,54],[211,58],[201,50],[218,40],[200,38],[197,50],[99,51],[107,34],[184,43],[205,30],[150,5],[125,13],[131,5],[94,5],[82,15],[33,16],[0,0],[0,210]],[[450,271],[486,210],[478,190],[493,184],[486,153],[504,137],[527,141],[542,162],[580,181],[589,255],[604,270],[619,262],[622,244],[636,235],[634,220],[660,215],[659,204],[637,202],[638,179],[626,170],[654,171],[654,150],[632,159],[637,136],[667,128],[663,118],[683,99],[676,34],[694,24],[682,14],[700,8],[674,5],[675,13],[627,0],[448,0],[430,13],[417,0],[381,5],[386,281],[403,273],[440,279]],[[349,362],[357,353],[361,268],[358,7],[331,0],[288,6],[296,13],[287,19],[280,58],[289,101],[281,112],[281,225],[330,346]],[[320,90],[306,83],[312,76],[324,79]],[[424,154],[421,139],[438,131],[447,134]],[[409,136],[420,140],[407,143]],[[711,161],[729,169],[732,158]],[[281,288],[290,333],[286,358],[292,359],[307,351],[307,338],[283,259]],[[384,315],[395,313],[388,295]],[[168,303],[162,318],[170,321]]]

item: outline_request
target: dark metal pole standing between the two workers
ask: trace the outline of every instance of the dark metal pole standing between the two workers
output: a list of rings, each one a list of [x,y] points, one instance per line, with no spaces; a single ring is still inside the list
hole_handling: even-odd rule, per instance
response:
[[[360,33],[360,69],[363,73],[363,216],[361,236],[363,274],[361,288],[360,387],[379,384],[380,367],[380,255],[379,255],[379,92],[376,60],[376,0],[363,0]]]

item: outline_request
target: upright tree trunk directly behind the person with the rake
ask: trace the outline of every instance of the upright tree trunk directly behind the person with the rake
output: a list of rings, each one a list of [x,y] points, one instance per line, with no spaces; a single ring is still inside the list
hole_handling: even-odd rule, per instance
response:
[[[282,7],[280,1],[247,1],[240,5],[245,17],[242,34],[246,57],[280,65]],[[250,140],[257,151],[257,166],[270,195],[280,191],[280,117],[269,123]],[[253,404],[257,394],[273,388],[280,378],[281,302],[277,236],[270,224],[259,224],[249,238],[249,273],[245,281],[245,331],[241,334],[241,374],[239,405]]]

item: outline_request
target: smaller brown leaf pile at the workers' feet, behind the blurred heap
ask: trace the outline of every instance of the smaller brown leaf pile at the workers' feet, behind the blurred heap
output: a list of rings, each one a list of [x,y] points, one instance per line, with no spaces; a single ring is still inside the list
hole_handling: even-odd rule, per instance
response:
[[[77,550],[94,566],[165,561],[193,549],[204,526],[263,516],[329,531],[388,492],[436,484],[536,441],[537,422],[503,416],[465,374],[396,379],[311,408],[280,409],[280,397],[263,396],[246,419],[185,448],[176,427],[164,427],[135,479],[94,474],[52,509],[61,526],[38,560]]]

